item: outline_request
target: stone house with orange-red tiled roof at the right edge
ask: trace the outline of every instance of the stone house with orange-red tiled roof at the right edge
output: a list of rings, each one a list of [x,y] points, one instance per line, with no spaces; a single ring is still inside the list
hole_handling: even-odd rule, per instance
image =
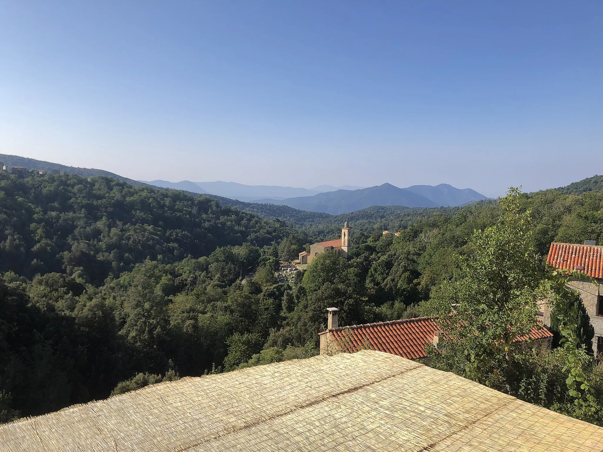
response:
[[[596,279],[596,284],[572,281],[567,285],[580,292],[590,324],[595,328],[593,351],[603,353],[603,246],[596,246],[595,240],[586,240],[584,245],[551,243],[546,262],[555,268],[581,271]],[[541,304],[540,318],[545,325],[551,325],[548,300]]]

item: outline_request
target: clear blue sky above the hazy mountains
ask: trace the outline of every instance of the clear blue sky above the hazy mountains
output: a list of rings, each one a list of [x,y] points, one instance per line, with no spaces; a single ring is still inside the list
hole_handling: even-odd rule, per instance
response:
[[[603,174],[601,1],[0,1],[0,152],[144,180]]]

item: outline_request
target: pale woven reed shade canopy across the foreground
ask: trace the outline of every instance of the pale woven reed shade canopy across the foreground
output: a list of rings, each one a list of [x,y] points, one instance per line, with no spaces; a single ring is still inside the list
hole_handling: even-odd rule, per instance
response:
[[[596,451],[603,428],[363,350],[159,383],[0,425],[2,451]]]

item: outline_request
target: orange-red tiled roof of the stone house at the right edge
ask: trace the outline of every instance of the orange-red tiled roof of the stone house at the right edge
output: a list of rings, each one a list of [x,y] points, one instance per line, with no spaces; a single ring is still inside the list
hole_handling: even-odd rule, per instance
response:
[[[603,246],[551,243],[546,262],[555,268],[576,269],[590,277],[603,278]]]

